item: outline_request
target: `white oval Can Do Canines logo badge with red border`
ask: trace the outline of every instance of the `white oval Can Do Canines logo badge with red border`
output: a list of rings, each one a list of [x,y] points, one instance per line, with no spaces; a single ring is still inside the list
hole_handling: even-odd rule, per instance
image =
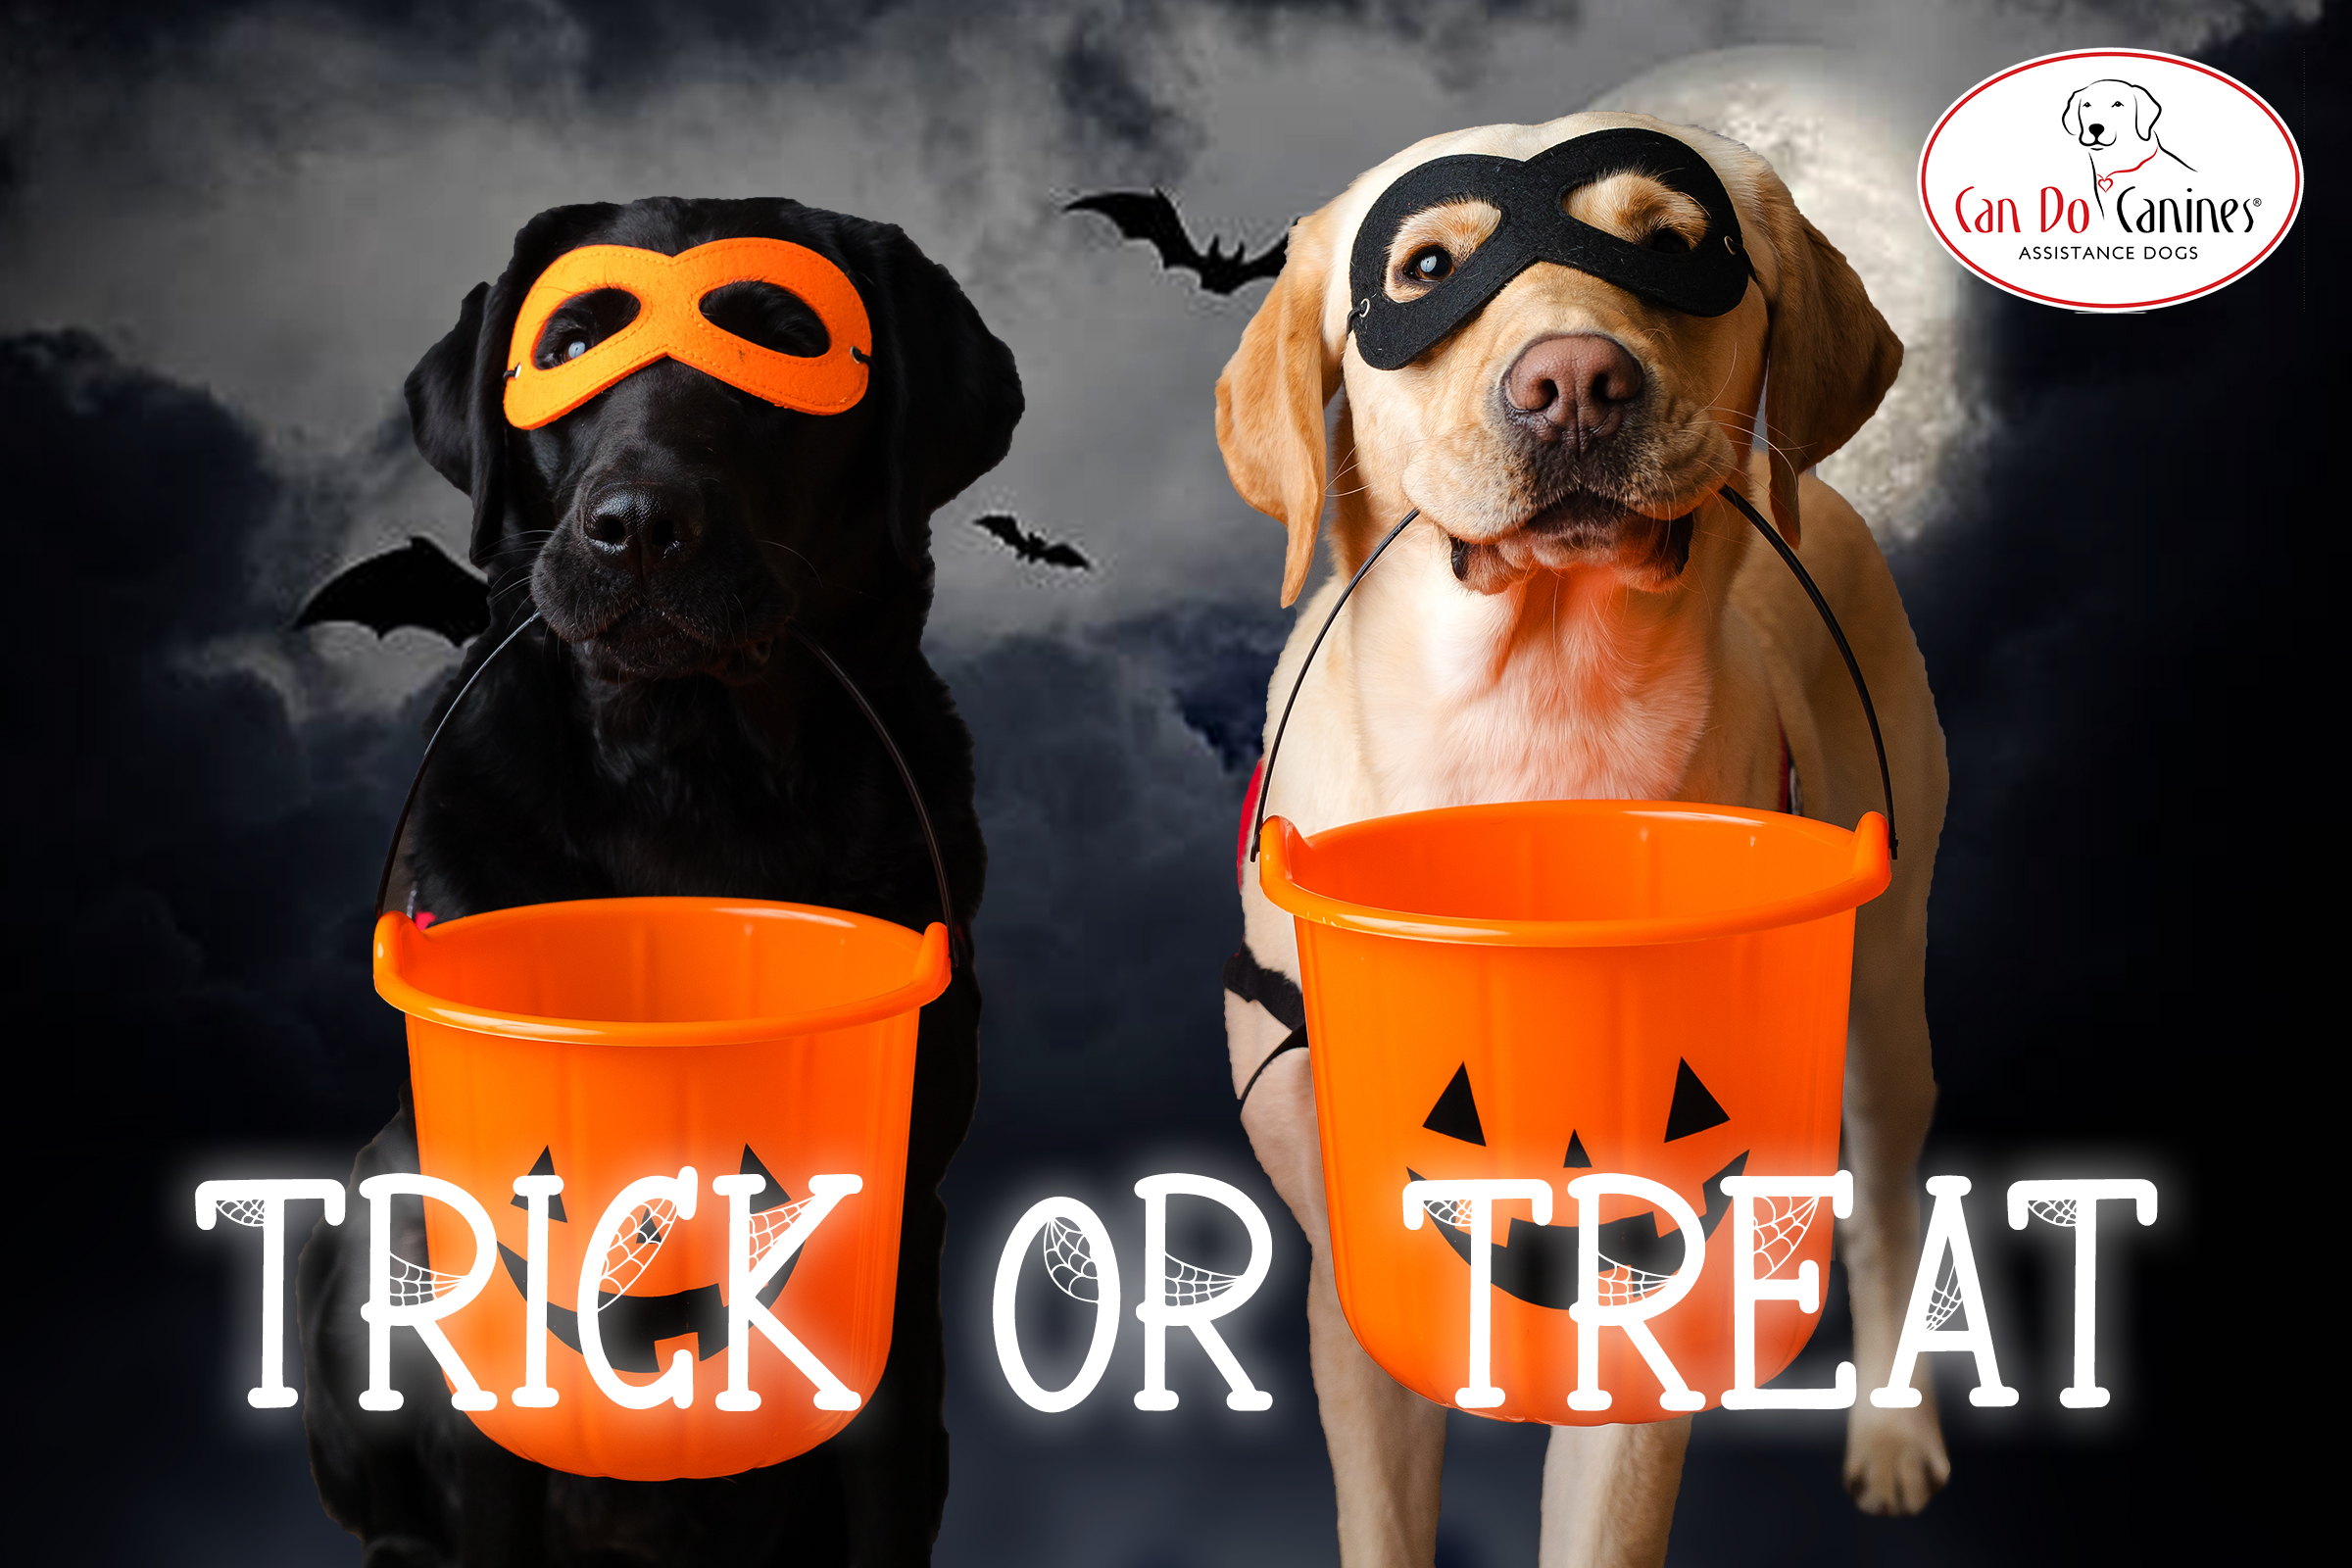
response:
[[[1919,153],[1919,202],[1985,282],[2067,310],[2154,310],[2277,249],[2303,153],[2244,82],[2178,54],[2044,54],[1971,87]]]

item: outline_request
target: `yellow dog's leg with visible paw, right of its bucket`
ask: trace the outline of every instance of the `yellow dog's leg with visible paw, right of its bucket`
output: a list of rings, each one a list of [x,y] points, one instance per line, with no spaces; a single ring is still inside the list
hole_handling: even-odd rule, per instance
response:
[[[1865,910],[1865,919],[1872,914]],[[1856,943],[1860,947],[1860,940]],[[1919,1267],[1919,1150],[1936,1110],[1919,961],[1856,964],[1846,1034],[1846,1161],[1853,1218],[1839,1225],[1853,1300],[1853,1363],[1860,1378],[1846,1420],[1846,1490],[1865,1514],[1917,1514],[1952,1462],[1936,1422],[1936,1392],[1910,1410],[1882,1410],[1870,1389],[1886,1385],[1903,1314]],[[1915,1373],[1924,1385],[1924,1368]]]

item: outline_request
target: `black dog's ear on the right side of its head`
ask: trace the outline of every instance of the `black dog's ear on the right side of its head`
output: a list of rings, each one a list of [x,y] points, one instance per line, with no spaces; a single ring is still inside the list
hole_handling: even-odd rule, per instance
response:
[[[1021,423],[1021,371],[948,268],[896,228],[887,235],[861,282],[877,315],[873,381],[889,400],[889,536],[908,571],[920,574],[929,569],[931,512],[1004,461]]]

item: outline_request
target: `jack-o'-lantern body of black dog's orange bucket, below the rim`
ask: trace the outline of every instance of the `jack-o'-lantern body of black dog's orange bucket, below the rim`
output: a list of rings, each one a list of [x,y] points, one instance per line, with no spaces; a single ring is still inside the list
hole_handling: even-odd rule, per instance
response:
[[[854,1410],[816,1408],[809,1378],[757,1331],[746,1335],[743,1352],[760,1408],[717,1406],[731,1352],[724,1295],[731,1215],[710,1178],[739,1171],[767,1178],[748,1199],[755,1260],[776,1241],[795,1201],[809,1197],[814,1175],[847,1173],[863,1182],[757,1295],[842,1385],[873,1394],[889,1356],[898,1269],[913,1016],[903,1044],[880,1041],[880,1048],[826,1034],[647,1051],[489,1037],[437,1041],[430,1037],[440,1025],[423,1020],[409,1030],[423,1168],[473,1192],[499,1232],[503,1279],[442,1321],[475,1380],[499,1394],[496,1408],[473,1413],[482,1432],[555,1469],[670,1479],[774,1465],[851,1420]],[[555,1114],[524,1119],[517,1105]],[[623,1187],[675,1175],[680,1166],[696,1171],[691,1218],[654,1199],[635,1204],[612,1234],[593,1234]],[[527,1382],[529,1211],[499,1194],[513,1194],[517,1175],[541,1168],[564,1180],[548,1201],[546,1225],[546,1382],[557,1403],[522,1408],[510,1389]],[[473,1251],[463,1218],[442,1204],[426,1204],[426,1241],[437,1272],[456,1272]],[[595,1385],[576,1307],[576,1286],[590,1267],[597,1340],[612,1373],[642,1387],[677,1352],[689,1352],[687,1408],[621,1408]]]

